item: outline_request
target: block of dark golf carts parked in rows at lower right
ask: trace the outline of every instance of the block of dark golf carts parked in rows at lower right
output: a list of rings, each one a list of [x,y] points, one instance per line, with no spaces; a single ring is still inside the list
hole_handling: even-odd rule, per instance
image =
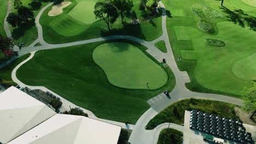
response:
[[[205,131],[206,133],[242,143],[252,141],[252,134],[246,132],[241,120],[221,117],[202,111],[190,111],[190,129]]]

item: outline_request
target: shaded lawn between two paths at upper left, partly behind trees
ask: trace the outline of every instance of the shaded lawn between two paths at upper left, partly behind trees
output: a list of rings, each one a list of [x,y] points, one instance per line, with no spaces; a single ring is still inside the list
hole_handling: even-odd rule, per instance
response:
[[[11,12],[17,13],[17,10],[14,9],[14,4],[13,4],[14,0],[12,0],[11,2],[12,2]],[[22,2],[22,5],[24,5],[25,7],[28,7],[28,4],[31,2],[31,0],[22,0],[21,2]],[[46,2],[42,2],[42,5],[39,9],[33,10],[34,17],[36,17],[40,9],[42,9],[47,4],[48,3]],[[37,39],[37,28],[33,21],[27,22],[25,25],[22,25],[20,28],[18,27],[13,28],[9,26],[9,29],[16,44],[24,42],[25,46],[28,46],[34,40]]]

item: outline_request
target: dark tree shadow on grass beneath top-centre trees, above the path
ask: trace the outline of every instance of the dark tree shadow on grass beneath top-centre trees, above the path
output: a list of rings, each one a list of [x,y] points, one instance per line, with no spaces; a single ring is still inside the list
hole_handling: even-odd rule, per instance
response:
[[[124,22],[123,28],[113,28],[109,31],[101,31],[102,37],[109,35],[131,35],[140,39],[144,39],[144,34],[141,31],[141,26],[138,24],[131,24]]]

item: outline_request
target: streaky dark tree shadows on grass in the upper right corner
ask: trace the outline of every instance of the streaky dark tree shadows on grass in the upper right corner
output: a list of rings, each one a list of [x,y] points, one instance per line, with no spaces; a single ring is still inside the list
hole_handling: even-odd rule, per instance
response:
[[[256,31],[256,17],[246,14],[242,9],[235,9],[234,11],[229,10],[226,7],[220,7],[224,11],[224,13],[228,14],[228,20],[238,24],[241,27],[245,27],[245,23],[247,26]]]

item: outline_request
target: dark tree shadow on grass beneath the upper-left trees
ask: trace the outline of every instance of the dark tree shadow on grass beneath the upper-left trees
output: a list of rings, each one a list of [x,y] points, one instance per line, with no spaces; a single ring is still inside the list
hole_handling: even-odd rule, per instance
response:
[[[19,39],[25,34],[25,32],[28,29],[31,29],[33,26],[35,26],[35,23],[34,23],[34,20],[32,19],[26,23],[22,23],[20,27],[14,28],[13,32],[11,33],[13,39]]]

